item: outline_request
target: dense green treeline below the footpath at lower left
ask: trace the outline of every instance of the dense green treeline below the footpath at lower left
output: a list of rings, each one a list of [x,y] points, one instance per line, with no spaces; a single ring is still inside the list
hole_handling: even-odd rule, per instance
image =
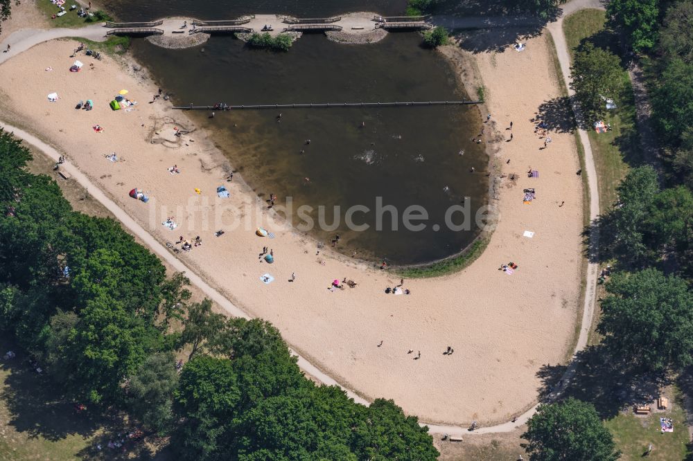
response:
[[[75,401],[127,411],[181,459],[437,458],[416,417],[316,386],[270,323],[190,302],[184,275],[166,278],[112,219],[74,212],[28,161],[0,131],[0,329]]]

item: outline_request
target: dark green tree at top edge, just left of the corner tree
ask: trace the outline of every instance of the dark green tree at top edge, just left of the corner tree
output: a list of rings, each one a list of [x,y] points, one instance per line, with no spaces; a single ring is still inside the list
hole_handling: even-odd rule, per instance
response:
[[[636,53],[656,43],[659,15],[659,0],[610,0],[606,4],[606,19],[624,32]]]

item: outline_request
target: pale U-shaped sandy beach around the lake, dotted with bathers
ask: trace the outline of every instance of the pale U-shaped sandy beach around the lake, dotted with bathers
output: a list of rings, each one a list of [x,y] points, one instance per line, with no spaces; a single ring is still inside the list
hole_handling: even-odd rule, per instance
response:
[[[563,361],[574,340],[582,264],[573,136],[550,134],[552,143],[541,150],[530,121],[539,105],[559,96],[545,37],[529,39],[522,53],[508,48],[468,58],[486,86],[495,127],[486,138],[504,138],[492,146],[498,151],[493,162],[508,176],[500,183],[500,221],[471,266],[443,278],[405,280],[410,296],[384,293],[399,284],[398,276],[328,248],[317,255],[310,238],[274,222],[238,175],[226,181],[233,165],[205,138],[204,126],[168,102],[149,104],[157,87],[144,71],[82,55],[82,71],[69,72],[75,47],[69,40],[47,42],[0,65],[0,119],[64,151],[162,243],[200,235],[202,246],[179,257],[236,305],[277,325],[295,350],[345,387],[368,399],[394,399],[425,422],[487,424],[534,404],[536,372]],[[132,111],[109,108],[121,89],[138,102]],[[46,95],[54,91],[60,99],[49,102]],[[94,110],[74,108],[87,99]],[[505,142],[511,121],[514,138]],[[174,127],[191,133],[177,137]],[[119,161],[105,157],[113,152]],[[179,174],[168,172],[173,165]],[[538,178],[527,177],[530,167]],[[221,185],[229,199],[217,197]],[[128,197],[132,188],[150,201]],[[532,204],[523,204],[523,188],[536,188]],[[161,225],[171,216],[175,230]],[[256,236],[258,226],[276,237]],[[220,228],[225,234],[215,237]],[[523,237],[525,230],[534,237]],[[274,251],[274,264],[258,259],[263,246]],[[498,270],[509,261],[519,266],[512,275]],[[265,273],[274,282],[261,282]],[[292,273],[296,280],[288,282]],[[344,278],[358,287],[328,290]],[[444,355],[447,346],[455,353]],[[414,360],[419,351],[421,359]]]

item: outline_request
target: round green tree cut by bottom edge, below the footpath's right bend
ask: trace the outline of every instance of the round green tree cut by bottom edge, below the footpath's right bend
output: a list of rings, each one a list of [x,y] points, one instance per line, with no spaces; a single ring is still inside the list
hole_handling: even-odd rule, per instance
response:
[[[522,444],[531,461],[612,461],[620,458],[613,437],[592,404],[570,397],[540,405],[527,422]]]

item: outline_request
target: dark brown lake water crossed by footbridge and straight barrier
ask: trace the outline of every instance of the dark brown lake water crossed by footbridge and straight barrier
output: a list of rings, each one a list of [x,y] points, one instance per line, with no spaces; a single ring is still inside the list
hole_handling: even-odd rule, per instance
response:
[[[220,19],[246,12],[316,17],[350,10],[396,15],[403,10],[399,1],[362,0],[118,4],[130,5],[114,8],[126,20]],[[213,36],[184,50],[137,39],[133,51],[179,105],[468,99],[448,62],[422,48],[418,33],[391,33],[367,45],[306,34],[288,53],[251,49],[229,36]],[[188,114],[210,129],[234,170],[258,195],[274,193],[278,204],[291,197],[294,210],[312,207],[305,213],[316,224],[309,233],[324,242],[339,234],[337,249],[345,254],[358,251],[359,257],[396,264],[428,262],[457,253],[478,234],[474,226],[453,230],[445,225],[450,206],[459,206],[464,197],[469,197],[472,215],[486,204],[488,157],[482,145],[471,141],[482,126],[475,106],[285,109],[279,123],[274,110],[217,111],[215,118],[204,111]],[[378,213],[378,203],[394,206],[396,229],[392,213]],[[423,230],[403,226],[403,214],[413,205],[428,213]],[[322,228],[317,225],[321,206]],[[367,230],[348,228],[345,215],[354,206],[369,208],[353,214],[353,223],[367,224]],[[335,219],[337,226],[331,226]],[[461,219],[458,214],[454,221]],[[302,221],[294,217],[295,225]]]

